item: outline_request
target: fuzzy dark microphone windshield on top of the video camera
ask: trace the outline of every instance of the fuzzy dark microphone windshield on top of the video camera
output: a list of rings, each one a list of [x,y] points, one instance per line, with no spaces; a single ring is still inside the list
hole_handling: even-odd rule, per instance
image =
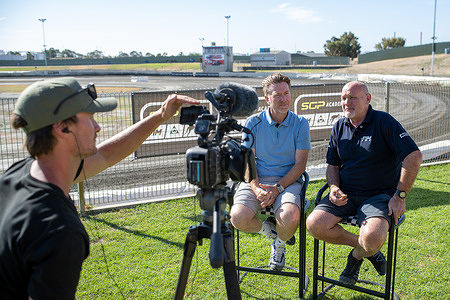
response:
[[[231,90],[231,91],[230,91]],[[248,117],[258,108],[258,94],[246,85],[235,82],[224,82],[220,84],[215,93],[223,97],[234,94],[233,105],[230,114],[237,117]],[[219,100],[220,101],[220,100]]]

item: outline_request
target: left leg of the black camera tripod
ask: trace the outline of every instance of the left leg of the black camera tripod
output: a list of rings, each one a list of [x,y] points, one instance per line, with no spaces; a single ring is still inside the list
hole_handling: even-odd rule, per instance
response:
[[[184,291],[186,290],[186,284],[189,277],[189,270],[191,269],[192,258],[194,257],[195,248],[197,247],[197,240],[197,226],[191,226],[186,235],[186,241],[184,242],[184,256],[181,263],[180,275],[178,277],[177,289],[173,298],[175,300],[182,300],[184,297]]]

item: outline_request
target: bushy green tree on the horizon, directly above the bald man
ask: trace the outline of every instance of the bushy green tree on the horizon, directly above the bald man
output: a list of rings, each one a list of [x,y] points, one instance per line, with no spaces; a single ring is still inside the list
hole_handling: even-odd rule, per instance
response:
[[[323,45],[328,56],[349,56],[356,58],[361,53],[358,38],[352,32],[345,32],[340,38],[333,36]]]

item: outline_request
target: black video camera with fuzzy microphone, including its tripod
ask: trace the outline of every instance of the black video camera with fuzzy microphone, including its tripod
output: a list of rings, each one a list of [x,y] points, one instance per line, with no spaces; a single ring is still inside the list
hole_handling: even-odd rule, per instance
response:
[[[231,131],[252,134],[231,115],[250,114],[258,107],[259,99],[253,89],[231,82],[219,85],[216,93],[206,92],[205,97],[216,108],[217,115],[211,114],[202,106],[181,109],[180,124],[195,124],[194,132],[199,135],[198,146],[186,151],[186,175],[190,183],[199,186],[197,195],[203,209],[203,222],[189,227],[175,298],[182,298],[184,294],[192,259],[190,255],[193,254],[197,241],[203,238],[211,239],[211,266],[224,266],[225,277],[232,278],[234,282],[227,284],[234,287],[231,294],[240,296],[232,231],[225,222],[228,218],[225,206],[227,202],[232,205],[234,190],[226,186],[226,181],[230,177],[233,181],[252,181],[256,176],[256,162],[251,149],[242,146],[231,136],[226,140],[223,138]]]

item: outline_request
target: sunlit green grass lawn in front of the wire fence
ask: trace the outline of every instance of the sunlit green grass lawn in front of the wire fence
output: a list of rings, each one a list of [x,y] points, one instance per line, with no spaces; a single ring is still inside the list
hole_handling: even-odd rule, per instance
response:
[[[399,230],[396,269],[395,290],[401,299],[450,298],[449,182],[450,164],[422,167],[408,195],[406,221]],[[323,183],[310,183],[308,199],[314,200]],[[82,218],[90,234],[91,254],[83,265],[77,299],[172,299],[186,233],[190,225],[200,222],[200,213],[198,201],[191,198]],[[267,264],[270,242],[256,234],[242,234],[241,238],[241,245],[245,246],[241,248],[243,263]],[[192,261],[185,299],[226,299],[222,269],[210,266],[210,240],[203,242]],[[306,247],[306,274],[312,279],[313,239],[309,235]],[[383,251],[386,252],[386,245]],[[339,277],[348,252],[345,246],[327,247],[329,276]],[[297,257],[297,244],[289,246],[286,264],[295,266]],[[365,262],[360,278],[384,277]],[[294,299],[297,283],[293,278],[251,273],[241,284],[242,298]],[[312,298],[311,284],[305,298]],[[376,298],[335,287],[323,299]]]

